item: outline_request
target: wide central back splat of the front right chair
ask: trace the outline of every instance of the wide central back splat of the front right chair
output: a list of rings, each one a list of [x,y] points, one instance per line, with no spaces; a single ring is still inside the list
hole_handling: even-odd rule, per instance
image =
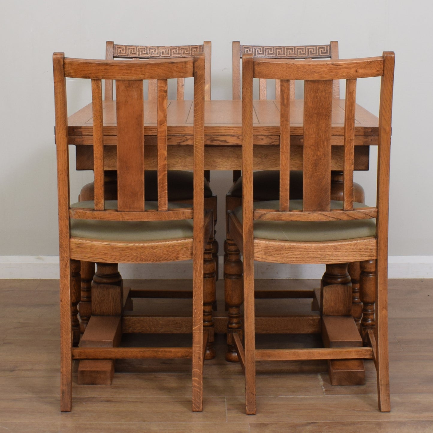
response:
[[[332,80],[304,85],[304,211],[329,211]]]

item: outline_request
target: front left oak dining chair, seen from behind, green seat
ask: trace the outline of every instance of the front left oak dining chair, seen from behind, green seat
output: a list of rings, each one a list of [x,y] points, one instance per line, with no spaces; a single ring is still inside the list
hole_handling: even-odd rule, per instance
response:
[[[192,358],[192,409],[202,410],[203,361],[213,334],[204,326],[204,295],[214,293],[215,280],[204,283],[204,260],[209,260],[213,240],[212,210],[204,210],[204,89],[205,61],[194,58],[142,61],[69,59],[53,55],[55,138],[57,147],[58,215],[60,244],[61,410],[71,410],[74,359]],[[193,205],[173,203],[167,188],[167,83],[172,77],[194,77],[194,199]],[[68,114],[66,78],[90,79],[94,136],[94,200],[70,204]],[[104,194],[104,130],[102,80],[116,82],[117,199]],[[158,200],[147,200],[144,153],[143,80],[157,80]],[[192,259],[192,346],[187,348],[94,347],[91,341],[72,347],[72,300],[81,261],[157,263]],[[121,285],[101,286],[92,293],[92,316],[86,331],[98,326],[115,328],[115,341],[123,332]],[[108,311],[110,310],[110,311]],[[105,322],[104,322],[105,320]],[[111,326],[111,325],[110,325]]]

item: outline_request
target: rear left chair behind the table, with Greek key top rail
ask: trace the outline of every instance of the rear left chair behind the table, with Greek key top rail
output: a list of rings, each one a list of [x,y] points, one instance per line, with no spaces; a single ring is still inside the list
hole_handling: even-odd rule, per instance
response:
[[[204,52],[205,58],[205,89],[204,99],[210,100],[210,85],[211,85],[211,42],[204,41],[199,45],[183,45],[183,46],[138,46],[138,45],[121,45],[115,44],[113,41],[106,43],[106,59],[181,59],[194,55],[197,52]],[[157,84],[156,80],[149,80],[146,82],[148,90],[148,100],[156,101],[157,98]],[[184,99],[184,78],[177,79],[177,99]],[[113,81],[106,80],[104,85],[104,99],[106,101],[113,101]],[[206,177],[204,185],[204,204],[205,208],[213,209],[214,223],[216,224],[217,218],[217,197],[213,194],[209,184],[210,172],[204,171]],[[115,171],[105,171],[105,199],[117,199],[117,175]],[[193,175],[189,171],[184,170],[168,170],[168,200],[182,203],[193,202]],[[157,195],[157,172],[155,170],[146,170],[145,172],[145,193],[149,200],[158,200]],[[94,199],[94,182],[85,185],[80,192],[79,201],[93,200]],[[213,258],[216,261],[216,275],[218,276],[218,243],[213,240]],[[91,285],[107,282],[107,275],[115,274],[117,279],[120,278],[117,267],[110,268],[100,267],[97,270],[96,279],[94,279],[95,265],[89,262],[81,264],[81,302],[78,309],[80,311],[81,319],[81,332],[87,326],[90,318],[90,303],[91,303]],[[110,280],[110,277],[108,277]],[[183,290],[155,290],[155,288],[135,289],[132,293],[133,296],[140,297],[171,297],[180,296],[182,298],[191,296],[190,291]],[[77,326],[78,329],[78,326]],[[76,331],[77,340],[79,332]],[[210,352],[207,358],[212,357]]]

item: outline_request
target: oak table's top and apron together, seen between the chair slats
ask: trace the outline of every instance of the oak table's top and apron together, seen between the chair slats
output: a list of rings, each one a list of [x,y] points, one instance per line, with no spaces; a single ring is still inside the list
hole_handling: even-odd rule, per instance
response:
[[[291,169],[302,169],[303,100],[291,105]],[[205,169],[241,169],[242,101],[205,101]],[[279,168],[279,101],[254,101],[255,169]],[[156,102],[144,104],[143,133],[149,157],[148,169],[156,168]],[[168,116],[168,168],[192,168],[192,101],[170,101]],[[116,104],[103,101],[105,168],[116,169]],[[343,169],[344,100],[335,99],[332,114],[332,169]],[[92,106],[82,108],[68,119],[69,144],[77,146],[78,170],[93,168]],[[357,105],[355,114],[355,169],[368,170],[369,145],[377,145],[378,118]],[[263,146],[262,146],[263,145]],[[152,149],[153,147],[153,149]]]

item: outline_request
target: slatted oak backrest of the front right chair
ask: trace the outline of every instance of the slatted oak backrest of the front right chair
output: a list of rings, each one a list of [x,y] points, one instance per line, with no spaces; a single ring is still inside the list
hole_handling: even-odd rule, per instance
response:
[[[355,100],[358,78],[381,77],[378,127],[378,190],[375,207],[354,208],[353,167],[355,143]],[[252,208],[252,83],[253,78],[281,79],[280,96],[280,206],[279,210]],[[344,195],[341,209],[330,208],[333,80],[346,80],[343,135]],[[289,211],[290,170],[290,81],[304,81],[303,209]],[[242,59],[242,199],[244,228],[254,219],[277,221],[330,221],[378,218],[388,227],[389,157],[394,53],[382,57],[348,60],[291,61],[259,59],[246,54]]]

